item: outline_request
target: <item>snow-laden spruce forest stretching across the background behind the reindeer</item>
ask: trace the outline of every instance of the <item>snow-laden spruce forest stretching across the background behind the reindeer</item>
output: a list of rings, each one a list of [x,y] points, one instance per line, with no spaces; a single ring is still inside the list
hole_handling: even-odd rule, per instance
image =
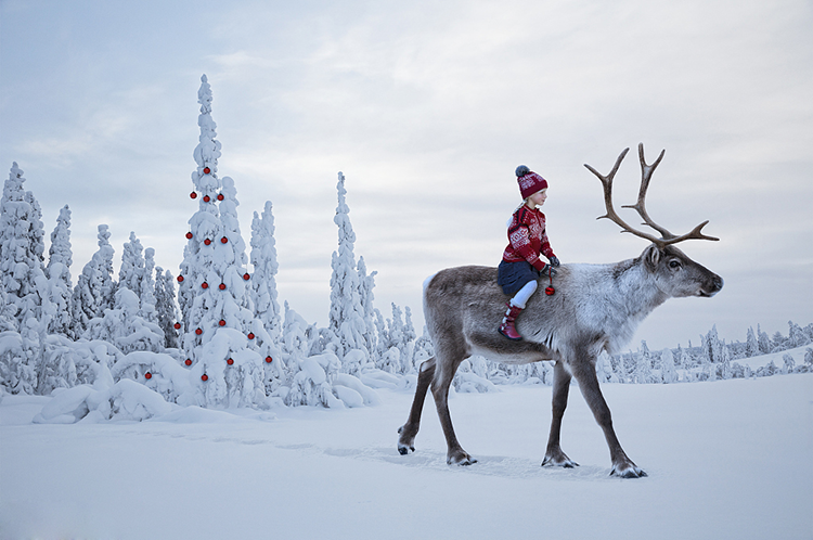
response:
[[[194,151],[189,220],[180,272],[156,265],[153,248],[130,233],[114,275],[107,226],[98,250],[72,280],[70,210],[60,210],[46,257],[42,211],[12,165],[0,217],[0,398],[4,393],[62,395],[62,408],[40,421],[142,420],[170,404],[211,408],[271,406],[361,407],[375,388],[414,384],[433,355],[409,307],[374,305],[376,272],[353,252],[345,177],[338,173],[327,327],[280,306],[271,202],[255,213],[249,243],[237,220],[234,181],[218,176],[220,142],[206,76],[198,90],[201,134]],[[176,286],[178,288],[176,288]],[[813,324],[789,322],[788,335],[748,329],[745,343],[725,343],[717,329],[700,344],[599,358],[607,383],[676,383],[813,371],[813,349],[797,362],[751,369],[748,358],[813,344]],[[798,358],[798,355],[797,355]],[[551,384],[550,362],[508,367],[474,357],[454,381],[457,391],[499,384]],[[65,404],[67,403],[67,404]]]

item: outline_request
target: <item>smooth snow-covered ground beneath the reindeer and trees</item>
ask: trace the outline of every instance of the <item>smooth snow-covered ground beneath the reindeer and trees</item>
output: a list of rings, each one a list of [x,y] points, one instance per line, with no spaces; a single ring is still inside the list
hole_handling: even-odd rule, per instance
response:
[[[608,477],[578,391],[563,448],[581,467],[541,468],[547,386],[451,399],[470,467],[446,465],[431,397],[417,452],[398,454],[405,391],[74,425],[30,423],[52,398],[7,396],[0,538],[813,538],[813,374],[603,389],[649,477]]]

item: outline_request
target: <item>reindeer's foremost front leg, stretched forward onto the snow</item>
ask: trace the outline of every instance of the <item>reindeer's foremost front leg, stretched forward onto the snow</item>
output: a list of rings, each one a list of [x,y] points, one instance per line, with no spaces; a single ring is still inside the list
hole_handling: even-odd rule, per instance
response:
[[[592,360],[586,355],[580,356],[573,362],[571,369],[576,381],[579,382],[579,388],[582,396],[584,396],[584,400],[588,402],[590,410],[593,411],[593,416],[598,425],[602,426],[604,437],[607,439],[610,460],[612,461],[610,475],[622,478],[641,478],[642,476],[646,476],[646,473],[627,457],[627,453],[621,448],[621,443],[618,441],[618,437],[616,437],[616,430],[612,429],[612,415],[598,386],[598,377],[595,374],[595,362]]]

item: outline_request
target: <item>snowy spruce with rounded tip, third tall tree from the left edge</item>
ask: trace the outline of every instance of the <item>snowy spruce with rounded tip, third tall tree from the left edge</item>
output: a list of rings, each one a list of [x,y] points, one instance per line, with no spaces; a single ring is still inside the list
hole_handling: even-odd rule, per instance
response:
[[[116,282],[113,281],[114,249],[109,243],[111,233],[106,224],[99,226],[99,249],[82,268],[74,287],[74,332],[85,333],[91,319],[104,317],[105,309],[112,309]]]

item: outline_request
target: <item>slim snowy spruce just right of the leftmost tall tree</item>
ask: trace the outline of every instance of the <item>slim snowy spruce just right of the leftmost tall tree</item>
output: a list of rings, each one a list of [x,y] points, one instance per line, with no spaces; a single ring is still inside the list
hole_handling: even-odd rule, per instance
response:
[[[55,307],[54,318],[51,319],[48,333],[61,334],[75,339],[77,335],[74,332],[72,263],[70,209],[65,205],[60,210],[60,217],[56,218],[56,227],[51,233],[51,247],[48,249],[46,277],[50,284],[51,301]]]

